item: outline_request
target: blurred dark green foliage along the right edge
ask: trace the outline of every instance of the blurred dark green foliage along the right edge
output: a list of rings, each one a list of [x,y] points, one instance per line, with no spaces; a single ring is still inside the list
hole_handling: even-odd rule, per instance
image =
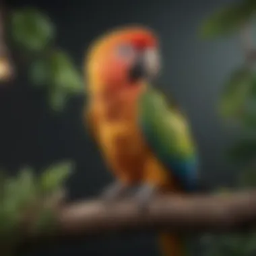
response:
[[[210,16],[200,28],[203,38],[217,38],[241,30],[252,21],[256,1],[244,0],[230,5]],[[230,148],[228,156],[244,165],[238,175],[236,189],[256,186],[256,73],[247,65],[230,74],[220,96],[219,110],[225,121],[239,124],[241,137]],[[230,189],[227,189],[230,191]],[[223,192],[222,192],[223,193]],[[251,256],[256,253],[256,232],[249,234],[205,234],[201,238],[203,255]]]

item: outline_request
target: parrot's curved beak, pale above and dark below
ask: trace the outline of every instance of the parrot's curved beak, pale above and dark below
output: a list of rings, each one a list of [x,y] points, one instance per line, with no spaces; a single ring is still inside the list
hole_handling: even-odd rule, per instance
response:
[[[130,69],[129,77],[133,82],[138,79],[151,80],[158,75],[159,69],[160,61],[158,53],[154,50],[146,50],[137,55]]]

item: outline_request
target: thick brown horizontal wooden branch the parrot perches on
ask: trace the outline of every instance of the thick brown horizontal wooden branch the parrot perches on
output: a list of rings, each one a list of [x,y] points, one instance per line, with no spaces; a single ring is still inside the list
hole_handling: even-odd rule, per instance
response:
[[[156,197],[148,211],[141,212],[134,200],[104,205],[102,201],[82,201],[57,211],[59,229],[50,236],[26,237],[31,248],[58,239],[138,230],[179,232],[226,232],[247,230],[256,224],[256,191],[224,195],[166,195]],[[28,246],[29,245],[29,246]]]

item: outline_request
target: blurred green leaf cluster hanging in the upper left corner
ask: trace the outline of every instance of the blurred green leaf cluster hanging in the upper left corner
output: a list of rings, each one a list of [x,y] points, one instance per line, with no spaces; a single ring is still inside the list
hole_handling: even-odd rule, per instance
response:
[[[30,81],[46,88],[53,110],[63,110],[69,96],[83,92],[83,82],[69,55],[55,46],[53,22],[32,7],[12,11],[9,18],[9,34],[26,59]]]

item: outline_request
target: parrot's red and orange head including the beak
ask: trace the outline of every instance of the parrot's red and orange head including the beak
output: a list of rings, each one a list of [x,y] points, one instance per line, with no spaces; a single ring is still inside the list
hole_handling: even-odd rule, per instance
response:
[[[114,30],[96,40],[86,59],[88,90],[134,90],[158,74],[158,38],[148,28]]]

